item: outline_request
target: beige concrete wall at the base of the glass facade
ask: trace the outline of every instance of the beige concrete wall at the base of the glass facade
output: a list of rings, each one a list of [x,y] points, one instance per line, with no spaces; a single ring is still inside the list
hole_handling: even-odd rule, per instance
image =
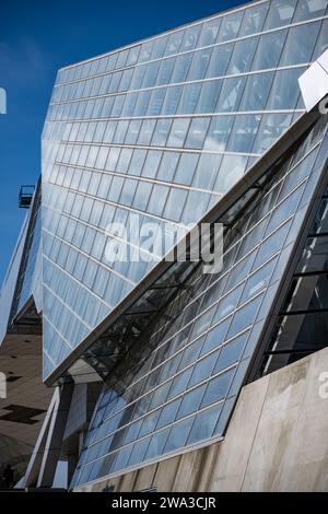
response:
[[[79,490],[328,491],[325,372],[328,348],[245,386],[224,441]]]

